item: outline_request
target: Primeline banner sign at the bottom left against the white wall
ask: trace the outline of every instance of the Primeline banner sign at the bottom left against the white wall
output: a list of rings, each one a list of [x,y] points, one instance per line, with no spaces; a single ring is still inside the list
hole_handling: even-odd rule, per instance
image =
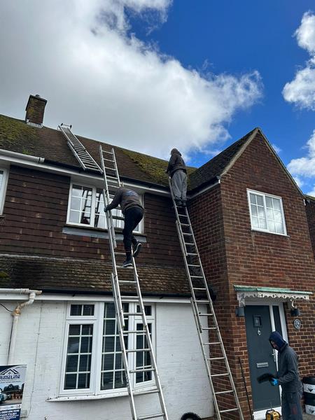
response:
[[[26,365],[0,365],[0,420],[20,420]]]

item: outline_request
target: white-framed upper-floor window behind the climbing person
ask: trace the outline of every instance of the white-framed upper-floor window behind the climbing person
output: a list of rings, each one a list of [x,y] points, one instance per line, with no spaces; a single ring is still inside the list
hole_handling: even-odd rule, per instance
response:
[[[87,225],[86,223],[76,223],[76,222],[71,222],[70,221],[71,198],[72,198],[73,185],[80,186],[80,187],[91,188],[92,189],[91,215],[90,215],[90,224],[89,225]],[[87,183],[82,183],[80,181],[71,181],[70,188],[69,188],[68,211],[67,211],[67,214],[66,214],[66,224],[67,225],[80,226],[80,227],[90,228],[90,229],[107,230],[107,228],[95,228],[94,227],[96,193],[97,193],[97,190],[98,189],[102,189],[102,188],[91,186],[91,185],[88,185]],[[143,195],[139,195],[139,198],[140,198],[141,204],[144,205],[144,196]],[[123,216],[123,214],[121,213],[121,210],[120,209],[113,209],[112,210],[112,213],[113,213],[113,216]],[[106,218],[105,218],[105,222],[106,222]],[[123,221],[114,220],[114,223],[116,223],[116,227],[117,228],[122,228],[123,229]],[[141,235],[142,233],[144,233],[144,219],[142,219],[139,222],[136,230],[134,230],[134,233],[136,235],[137,234]]]

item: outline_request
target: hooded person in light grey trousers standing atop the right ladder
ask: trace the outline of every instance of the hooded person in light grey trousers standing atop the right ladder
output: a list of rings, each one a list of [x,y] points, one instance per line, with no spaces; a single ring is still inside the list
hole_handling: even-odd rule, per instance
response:
[[[165,171],[172,178],[172,190],[176,206],[186,207],[187,171],[181,153],[172,149],[169,165]]]

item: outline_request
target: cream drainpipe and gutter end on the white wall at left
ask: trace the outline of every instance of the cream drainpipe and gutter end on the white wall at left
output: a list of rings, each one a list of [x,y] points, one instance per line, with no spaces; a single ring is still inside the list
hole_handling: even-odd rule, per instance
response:
[[[15,344],[16,337],[18,335],[18,321],[21,315],[22,308],[29,306],[35,300],[36,295],[41,295],[41,290],[30,290],[27,288],[21,289],[10,289],[10,288],[0,288],[0,293],[17,293],[17,294],[27,294],[29,293],[29,300],[26,302],[19,303],[18,306],[14,309],[9,351],[8,351],[8,365],[13,364],[14,353],[15,353]]]

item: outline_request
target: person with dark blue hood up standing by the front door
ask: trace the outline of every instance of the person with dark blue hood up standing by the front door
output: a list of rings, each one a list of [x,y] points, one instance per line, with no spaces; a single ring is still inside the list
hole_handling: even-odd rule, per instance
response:
[[[278,351],[278,372],[271,384],[281,385],[281,409],[283,420],[302,420],[302,383],[299,377],[297,354],[281,337],[272,332],[269,342]]]

